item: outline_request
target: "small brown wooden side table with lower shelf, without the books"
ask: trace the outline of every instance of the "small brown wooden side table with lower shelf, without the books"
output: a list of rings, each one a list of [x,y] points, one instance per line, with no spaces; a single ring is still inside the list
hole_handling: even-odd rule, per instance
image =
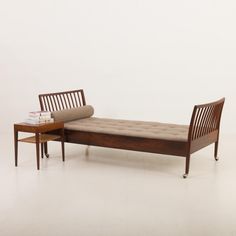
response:
[[[47,132],[58,130],[58,135],[47,134]],[[18,132],[34,133],[34,136],[18,139]],[[39,145],[41,144],[41,156],[43,157],[43,150],[47,153],[47,142],[53,140],[61,141],[62,149],[62,160],[65,161],[65,148],[64,148],[64,123],[63,122],[52,122],[42,124],[28,124],[18,123],[14,124],[14,145],[15,145],[15,166],[18,165],[18,142],[35,143],[36,144],[36,160],[37,169],[40,169],[40,150]]]

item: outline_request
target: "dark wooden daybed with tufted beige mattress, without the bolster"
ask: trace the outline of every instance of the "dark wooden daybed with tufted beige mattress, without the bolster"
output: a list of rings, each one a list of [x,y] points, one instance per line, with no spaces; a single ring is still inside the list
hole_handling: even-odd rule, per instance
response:
[[[40,94],[42,111],[65,111],[87,107],[82,89]],[[220,119],[225,99],[194,106],[190,125],[125,121],[89,117],[65,123],[65,142],[135,150],[186,158],[188,176],[190,155],[215,144],[217,161]]]

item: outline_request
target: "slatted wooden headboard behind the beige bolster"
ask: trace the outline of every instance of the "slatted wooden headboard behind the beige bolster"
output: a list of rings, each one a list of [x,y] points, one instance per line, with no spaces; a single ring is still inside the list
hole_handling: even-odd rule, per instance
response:
[[[84,91],[82,89],[58,93],[40,94],[39,102],[41,111],[51,112],[86,105]]]

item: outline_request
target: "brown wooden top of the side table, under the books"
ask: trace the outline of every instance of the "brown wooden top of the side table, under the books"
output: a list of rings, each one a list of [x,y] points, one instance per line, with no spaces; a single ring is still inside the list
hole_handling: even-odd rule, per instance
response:
[[[30,124],[26,122],[22,123],[16,123],[14,124],[14,130],[15,131],[21,131],[21,132],[49,132],[52,130],[57,129],[63,129],[64,128],[64,122],[62,121],[55,121],[55,122],[46,122],[46,123],[40,123],[40,124]]]

